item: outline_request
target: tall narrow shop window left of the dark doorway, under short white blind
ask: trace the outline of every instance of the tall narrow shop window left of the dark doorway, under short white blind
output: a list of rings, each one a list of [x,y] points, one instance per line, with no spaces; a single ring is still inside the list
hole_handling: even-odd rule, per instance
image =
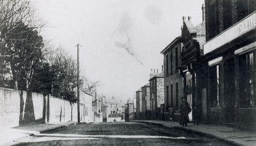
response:
[[[220,106],[220,66],[209,66],[210,106]]]

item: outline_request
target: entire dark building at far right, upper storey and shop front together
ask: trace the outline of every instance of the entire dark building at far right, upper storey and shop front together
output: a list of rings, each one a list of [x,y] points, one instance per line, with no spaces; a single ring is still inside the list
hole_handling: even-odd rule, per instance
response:
[[[211,123],[255,129],[256,1],[206,0],[206,107]]]

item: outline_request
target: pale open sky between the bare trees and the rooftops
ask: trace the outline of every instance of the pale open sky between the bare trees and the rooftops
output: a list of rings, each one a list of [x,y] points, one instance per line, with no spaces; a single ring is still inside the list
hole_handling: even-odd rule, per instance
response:
[[[32,1],[41,35],[77,58],[80,74],[98,81],[97,93],[123,101],[161,71],[160,52],[181,35],[182,16],[202,22],[203,0]]]

